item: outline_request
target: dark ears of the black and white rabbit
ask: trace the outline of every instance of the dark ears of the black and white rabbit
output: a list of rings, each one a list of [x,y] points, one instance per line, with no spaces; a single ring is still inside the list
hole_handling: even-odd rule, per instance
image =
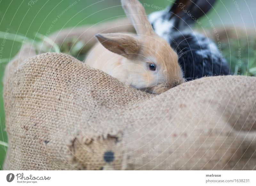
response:
[[[172,16],[177,15],[182,19],[200,18],[205,15],[215,3],[216,0],[176,0],[170,9]],[[188,18],[188,14],[191,16]]]

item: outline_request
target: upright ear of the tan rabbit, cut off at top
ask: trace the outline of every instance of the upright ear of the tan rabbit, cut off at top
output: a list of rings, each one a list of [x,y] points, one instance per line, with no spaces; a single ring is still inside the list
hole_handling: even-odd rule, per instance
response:
[[[145,9],[138,0],[121,0],[121,3],[125,14],[132,22],[137,34],[150,35],[154,33],[148,21]]]

